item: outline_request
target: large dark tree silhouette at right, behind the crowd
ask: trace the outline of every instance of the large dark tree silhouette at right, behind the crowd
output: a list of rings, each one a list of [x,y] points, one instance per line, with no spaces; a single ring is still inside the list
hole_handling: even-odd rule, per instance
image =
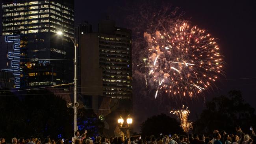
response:
[[[241,92],[230,91],[228,96],[219,96],[206,103],[206,109],[194,123],[193,130],[197,133],[211,134],[214,129],[234,133],[237,125],[243,132],[249,133],[249,127],[255,126],[254,108],[245,103]]]

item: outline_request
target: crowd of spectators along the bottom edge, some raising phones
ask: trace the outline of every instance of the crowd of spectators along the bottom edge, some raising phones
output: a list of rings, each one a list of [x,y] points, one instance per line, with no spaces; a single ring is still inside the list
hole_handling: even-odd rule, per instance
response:
[[[141,138],[141,136],[126,137],[96,137],[93,140],[86,136],[87,131],[82,135],[76,131],[76,137],[70,140],[59,139],[50,140],[49,137],[45,138],[42,142],[40,138],[31,137],[29,139],[24,138],[12,138],[11,143],[7,143],[4,138],[0,138],[0,144],[256,144],[256,135],[252,128],[250,128],[250,134],[245,134],[239,126],[236,127],[234,134],[227,134],[225,131],[219,133],[218,130],[214,130],[212,135],[205,137],[204,135],[187,134],[187,135],[160,135],[155,137],[154,135]]]

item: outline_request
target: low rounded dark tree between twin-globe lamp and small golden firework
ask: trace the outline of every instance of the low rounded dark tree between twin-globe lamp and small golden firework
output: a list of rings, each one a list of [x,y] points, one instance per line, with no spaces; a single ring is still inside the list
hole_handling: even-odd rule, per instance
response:
[[[150,135],[158,137],[160,133],[163,135],[169,135],[184,132],[176,119],[171,118],[165,114],[152,116],[141,125],[141,136],[143,138]]]

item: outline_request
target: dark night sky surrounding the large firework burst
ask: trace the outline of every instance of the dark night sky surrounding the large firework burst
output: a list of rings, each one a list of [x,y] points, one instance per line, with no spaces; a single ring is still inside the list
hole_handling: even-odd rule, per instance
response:
[[[117,26],[129,28],[126,23],[127,12],[137,11],[138,9],[130,9],[130,7],[141,4],[143,1],[127,1],[75,0],[75,23],[86,20],[93,24],[93,30],[96,32],[98,21],[109,15],[116,21]],[[217,42],[226,62],[225,76],[217,82],[218,89],[214,88],[213,92],[205,94],[206,101],[213,96],[226,94],[230,90],[241,90],[245,102],[256,108],[256,0],[157,1],[180,7],[180,10],[185,13],[183,18],[189,19],[191,24],[206,29],[219,39]],[[134,96],[137,95],[134,94]],[[159,105],[156,106],[158,102],[150,102],[156,100],[150,99],[145,102],[145,99],[145,97],[134,98],[136,101],[134,109],[137,111],[133,116],[135,130],[138,130],[138,126],[149,116],[169,113],[159,108]],[[196,113],[200,114],[204,109],[204,101],[192,103],[189,108],[191,109],[190,118],[195,120]]]

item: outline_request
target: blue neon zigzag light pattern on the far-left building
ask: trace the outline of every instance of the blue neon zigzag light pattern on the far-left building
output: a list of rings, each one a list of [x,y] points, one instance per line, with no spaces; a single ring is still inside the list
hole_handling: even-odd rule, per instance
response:
[[[4,69],[6,72],[13,72],[15,76],[15,88],[20,88],[20,39],[17,36],[6,36],[6,42],[13,42],[14,52],[8,52],[8,59],[11,60],[11,68]]]

